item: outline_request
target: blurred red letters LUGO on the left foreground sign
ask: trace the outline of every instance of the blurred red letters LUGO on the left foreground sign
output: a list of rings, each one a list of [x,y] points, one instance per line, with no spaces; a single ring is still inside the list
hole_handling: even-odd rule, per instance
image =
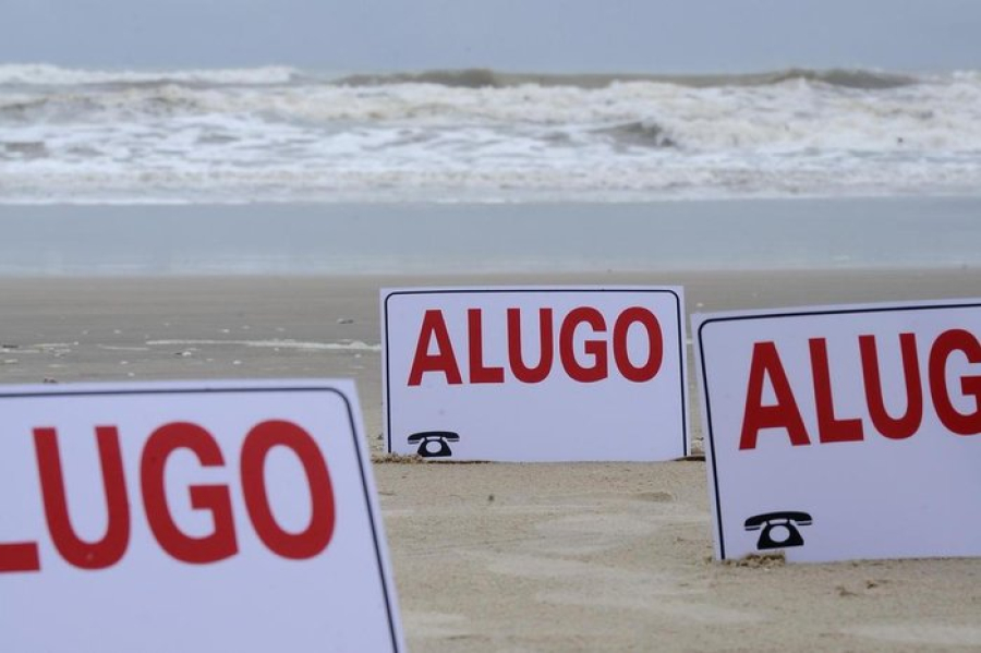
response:
[[[70,565],[80,569],[105,569],[119,563],[129,547],[131,516],[128,484],[123,472],[119,431],[96,426],[108,509],[105,535],[96,542],[78,537],[69,515],[58,433],[55,428],[33,430],[44,510],[51,543]],[[287,447],[302,463],[311,497],[311,518],[301,532],[288,532],[276,521],[265,481],[266,457],[274,447]],[[239,552],[231,495],[227,485],[190,485],[191,506],[210,512],[214,530],[204,536],[182,532],[167,503],[165,470],[178,450],[193,454],[205,468],[225,465],[225,456],[214,436],[190,422],[171,422],[149,436],[140,462],[140,492],[150,531],[167,554],[183,563],[208,564]],[[281,420],[256,424],[242,445],[239,461],[245,508],[259,540],[274,554],[290,559],[318,555],[330,543],[335,524],[334,491],[327,463],[313,437],[301,426]],[[0,572],[39,571],[36,542],[0,543]]]

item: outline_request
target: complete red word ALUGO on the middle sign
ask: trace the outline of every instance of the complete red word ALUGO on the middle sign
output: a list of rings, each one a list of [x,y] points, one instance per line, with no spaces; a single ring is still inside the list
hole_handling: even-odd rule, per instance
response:
[[[630,359],[628,335],[631,327],[643,329],[647,343],[646,359],[637,364]],[[634,383],[645,383],[657,375],[664,360],[664,336],[657,317],[647,309],[631,306],[617,316],[611,332],[603,314],[590,306],[572,309],[562,318],[556,330],[552,309],[538,310],[538,360],[529,364],[522,355],[521,310],[507,310],[508,368],[521,383],[536,384],[549,377],[555,366],[556,340],[558,359],[566,375],[579,383],[595,383],[609,376],[609,353],[616,368],[623,378]],[[590,336],[577,351],[577,332],[590,329]],[[598,337],[607,335],[607,337]],[[435,346],[435,348],[434,348]],[[471,384],[505,383],[504,365],[491,365],[484,359],[483,311],[467,311],[467,351],[469,363],[468,382]],[[431,353],[431,351],[433,353]],[[441,375],[449,385],[460,385],[463,376],[457,350],[450,338],[443,311],[432,309],[423,315],[409,385],[419,386],[426,374]]]

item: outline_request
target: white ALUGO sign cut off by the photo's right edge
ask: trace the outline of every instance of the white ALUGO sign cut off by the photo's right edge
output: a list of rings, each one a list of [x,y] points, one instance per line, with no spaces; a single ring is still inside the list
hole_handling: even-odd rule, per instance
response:
[[[981,555],[981,301],[695,315],[716,555]]]

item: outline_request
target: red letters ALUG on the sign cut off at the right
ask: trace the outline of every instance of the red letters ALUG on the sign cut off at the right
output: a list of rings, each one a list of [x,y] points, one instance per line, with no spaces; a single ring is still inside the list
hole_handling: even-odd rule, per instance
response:
[[[832,397],[831,370],[825,338],[808,340],[811,378],[814,385],[814,408],[818,422],[818,442],[844,443],[864,438],[865,424],[860,418],[839,418]],[[892,415],[886,410],[879,364],[879,346],[874,336],[859,336],[862,383],[865,403],[872,427],[883,437],[905,439],[920,430],[924,413],[924,388],[920,370],[919,344],[916,334],[899,334],[899,351],[903,358],[903,377],[906,387],[906,410]],[[950,398],[947,385],[947,362],[953,355],[961,355],[969,363],[981,363],[981,343],[965,329],[949,329],[940,334],[930,344],[927,364],[927,388],[941,424],[957,435],[981,433],[981,375],[962,376],[960,391],[973,398],[974,409],[960,412]],[[763,403],[765,382],[776,396],[771,404]],[[804,426],[797,398],[790,387],[779,351],[773,341],[753,346],[747,385],[746,411],[739,438],[740,449],[755,449],[760,431],[780,428],[794,446],[810,445],[812,437]]]

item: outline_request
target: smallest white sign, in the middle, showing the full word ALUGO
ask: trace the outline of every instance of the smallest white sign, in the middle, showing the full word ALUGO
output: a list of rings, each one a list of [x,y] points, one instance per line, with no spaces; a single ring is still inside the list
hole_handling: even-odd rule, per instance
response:
[[[688,454],[680,288],[382,291],[388,450],[431,459]]]

